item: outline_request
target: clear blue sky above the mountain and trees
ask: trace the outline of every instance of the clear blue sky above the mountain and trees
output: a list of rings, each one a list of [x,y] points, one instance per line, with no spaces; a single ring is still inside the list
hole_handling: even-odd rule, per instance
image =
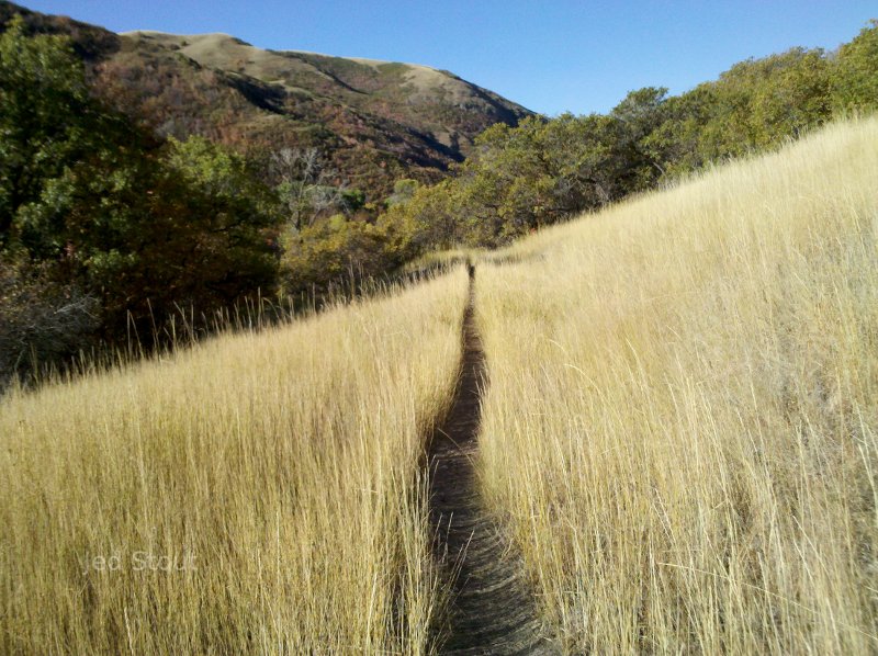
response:
[[[115,32],[226,32],[256,46],[426,64],[554,115],[672,93],[735,61],[849,41],[876,0],[22,0]]]

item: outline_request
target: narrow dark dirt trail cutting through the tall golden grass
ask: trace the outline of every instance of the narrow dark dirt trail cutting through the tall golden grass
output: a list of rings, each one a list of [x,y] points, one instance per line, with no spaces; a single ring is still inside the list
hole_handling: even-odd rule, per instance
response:
[[[520,556],[484,511],[474,456],[481,398],[487,385],[482,341],[470,301],[463,317],[463,357],[451,409],[428,449],[434,553],[453,583],[444,654],[554,654],[541,634]]]

